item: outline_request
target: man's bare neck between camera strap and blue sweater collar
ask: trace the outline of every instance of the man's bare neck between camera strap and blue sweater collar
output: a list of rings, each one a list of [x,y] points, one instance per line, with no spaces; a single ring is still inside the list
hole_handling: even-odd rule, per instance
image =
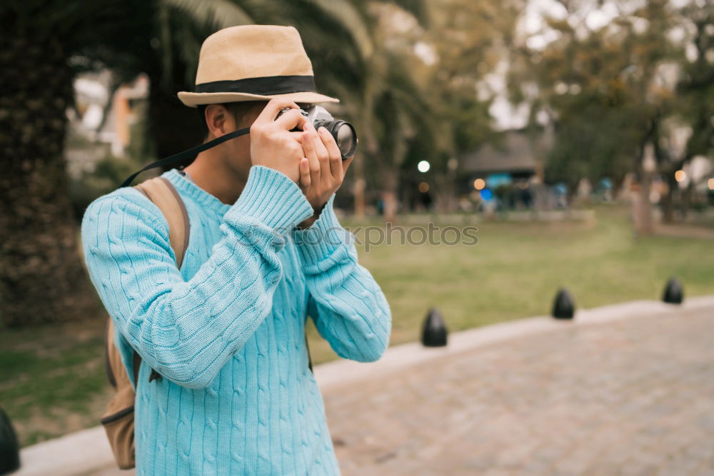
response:
[[[199,153],[196,160],[186,167],[186,172],[191,174],[193,183],[204,191],[226,205],[233,205],[241,196],[247,177],[238,175],[216,156],[206,152]]]

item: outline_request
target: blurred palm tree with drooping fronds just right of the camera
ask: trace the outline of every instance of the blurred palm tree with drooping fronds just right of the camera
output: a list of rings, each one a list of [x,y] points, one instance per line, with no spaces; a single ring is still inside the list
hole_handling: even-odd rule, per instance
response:
[[[411,14],[419,24],[428,24],[426,1],[355,1],[364,24],[364,32],[352,36],[357,41],[358,56],[354,66],[341,69],[342,76],[330,81],[328,87],[345,99],[341,112],[361,135],[353,166],[355,214],[363,216],[369,176],[381,189],[386,221],[394,221],[406,153],[416,144],[433,143],[438,126],[433,121],[432,105],[413,75],[411,52],[388,45],[390,30],[380,21],[381,7],[386,4]]]

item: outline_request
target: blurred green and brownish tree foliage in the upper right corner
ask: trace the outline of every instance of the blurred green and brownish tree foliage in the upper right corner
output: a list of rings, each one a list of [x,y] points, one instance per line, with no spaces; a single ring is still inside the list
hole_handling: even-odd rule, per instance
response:
[[[641,175],[651,143],[660,172],[674,182],[674,170],[711,151],[712,6],[623,2],[608,24],[590,29],[579,14],[595,3],[563,1],[565,16],[547,19],[555,39],[543,48],[521,41],[511,69],[511,98],[530,103],[531,125],[540,118],[555,127],[546,178],[574,185]],[[670,147],[670,118],[693,130],[685,154]]]

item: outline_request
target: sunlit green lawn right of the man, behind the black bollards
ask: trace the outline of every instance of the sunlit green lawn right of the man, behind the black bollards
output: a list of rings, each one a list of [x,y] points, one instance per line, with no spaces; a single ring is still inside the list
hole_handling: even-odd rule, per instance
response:
[[[638,238],[628,208],[620,206],[600,206],[596,216],[589,224],[478,223],[473,246],[361,249],[360,263],[391,305],[391,344],[417,340],[431,306],[453,331],[548,315],[561,286],[579,308],[660,299],[671,275],[683,281],[686,295],[714,293],[713,240]],[[333,355],[318,340],[311,351],[317,361]]]

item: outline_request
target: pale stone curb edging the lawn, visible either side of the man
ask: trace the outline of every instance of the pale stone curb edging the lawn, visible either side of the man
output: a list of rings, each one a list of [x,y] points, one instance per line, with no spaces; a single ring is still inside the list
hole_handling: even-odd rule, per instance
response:
[[[358,382],[376,375],[398,372],[436,358],[443,358],[494,343],[527,335],[562,330],[573,326],[588,326],[610,323],[617,320],[663,315],[673,311],[686,312],[711,308],[714,310],[714,295],[687,298],[681,305],[672,305],[655,300],[634,300],[605,305],[599,308],[578,310],[573,320],[558,320],[550,316],[538,316],[487,325],[481,328],[452,333],[444,348],[425,348],[421,343],[408,343],[388,348],[382,358],[373,363],[353,360],[336,360],[316,365],[315,379],[324,393],[341,385]],[[114,467],[114,455],[101,426],[69,433],[25,447],[20,452],[21,468],[13,476],[74,476]],[[116,470],[119,474],[119,470]],[[133,474],[133,472],[127,472]]]

